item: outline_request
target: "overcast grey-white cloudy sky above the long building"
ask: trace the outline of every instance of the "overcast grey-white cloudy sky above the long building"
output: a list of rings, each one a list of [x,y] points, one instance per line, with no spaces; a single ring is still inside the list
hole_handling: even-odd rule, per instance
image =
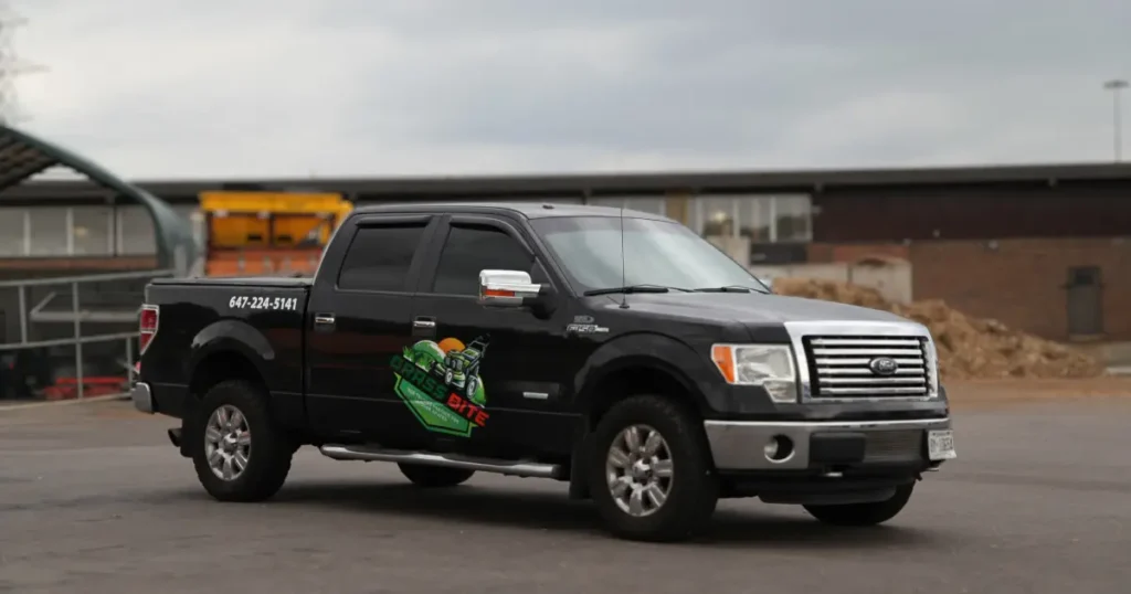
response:
[[[133,179],[1108,161],[1131,78],[1126,0],[9,3],[20,126]]]

